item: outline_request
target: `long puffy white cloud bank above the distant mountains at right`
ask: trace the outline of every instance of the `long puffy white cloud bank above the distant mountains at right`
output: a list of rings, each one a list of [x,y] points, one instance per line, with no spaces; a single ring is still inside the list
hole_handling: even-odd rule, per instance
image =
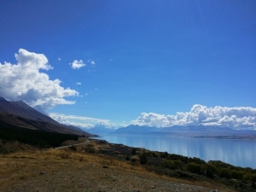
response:
[[[195,104],[189,112],[177,112],[176,115],[141,113],[132,120],[133,125],[168,127],[173,125],[217,125],[234,129],[256,129],[256,108],[225,108],[216,106],[207,108]]]

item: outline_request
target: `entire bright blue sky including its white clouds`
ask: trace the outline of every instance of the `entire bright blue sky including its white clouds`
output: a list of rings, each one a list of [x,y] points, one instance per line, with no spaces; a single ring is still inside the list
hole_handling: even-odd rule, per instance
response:
[[[0,96],[91,127],[256,130],[254,0],[0,2]]]

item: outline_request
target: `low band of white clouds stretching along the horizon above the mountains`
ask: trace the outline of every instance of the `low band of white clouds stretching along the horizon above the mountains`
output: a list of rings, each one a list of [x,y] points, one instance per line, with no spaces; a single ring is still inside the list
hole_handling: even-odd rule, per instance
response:
[[[86,129],[97,125],[112,129],[128,126],[114,125],[109,119],[95,119],[60,113],[49,113],[49,116],[60,123],[77,125]],[[207,108],[207,106],[195,104],[189,112],[177,112],[176,115],[141,113],[137,119],[131,120],[130,125],[159,128],[171,127],[173,125],[214,125],[230,127],[236,130],[256,130],[256,108],[225,108],[220,106]]]

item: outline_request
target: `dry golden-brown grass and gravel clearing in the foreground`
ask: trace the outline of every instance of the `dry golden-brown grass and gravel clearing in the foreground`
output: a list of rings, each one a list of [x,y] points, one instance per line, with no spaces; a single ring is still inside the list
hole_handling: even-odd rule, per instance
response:
[[[83,147],[79,146],[80,149]],[[103,169],[103,165],[109,168]],[[116,180],[120,182],[113,182]],[[153,183],[161,191],[172,191],[169,190],[172,183],[207,188],[201,191],[217,188],[212,183],[193,183],[159,176],[131,161],[116,160],[102,154],[86,154],[69,148],[29,150],[0,156],[1,191],[30,191],[31,187],[34,187],[32,191],[109,191],[111,187],[121,191],[149,191]]]

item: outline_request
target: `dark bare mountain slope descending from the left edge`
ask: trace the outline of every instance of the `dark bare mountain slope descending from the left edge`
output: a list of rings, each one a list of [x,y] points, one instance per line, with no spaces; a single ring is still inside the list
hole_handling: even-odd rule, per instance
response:
[[[0,97],[0,127],[15,125],[34,130],[52,131],[75,135],[93,136],[72,125],[62,125],[49,116],[38,112],[26,102],[9,102]]]

